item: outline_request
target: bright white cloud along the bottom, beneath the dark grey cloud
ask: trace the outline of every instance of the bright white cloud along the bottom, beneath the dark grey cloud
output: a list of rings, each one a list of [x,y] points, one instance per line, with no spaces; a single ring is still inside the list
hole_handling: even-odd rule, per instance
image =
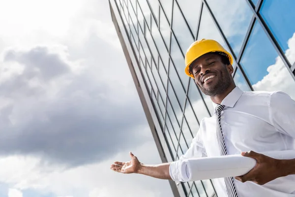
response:
[[[144,143],[131,151],[142,163],[160,163],[158,154],[155,154],[157,150],[154,142]],[[63,168],[59,165],[44,164],[40,158],[36,157],[10,156],[0,159],[2,166],[0,182],[5,182],[17,190],[30,189],[44,194],[53,193],[57,196],[162,197],[172,195],[167,180],[139,174],[121,174],[110,169],[114,161],[129,160],[128,151],[124,151],[118,152],[112,159],[101,163]]]

